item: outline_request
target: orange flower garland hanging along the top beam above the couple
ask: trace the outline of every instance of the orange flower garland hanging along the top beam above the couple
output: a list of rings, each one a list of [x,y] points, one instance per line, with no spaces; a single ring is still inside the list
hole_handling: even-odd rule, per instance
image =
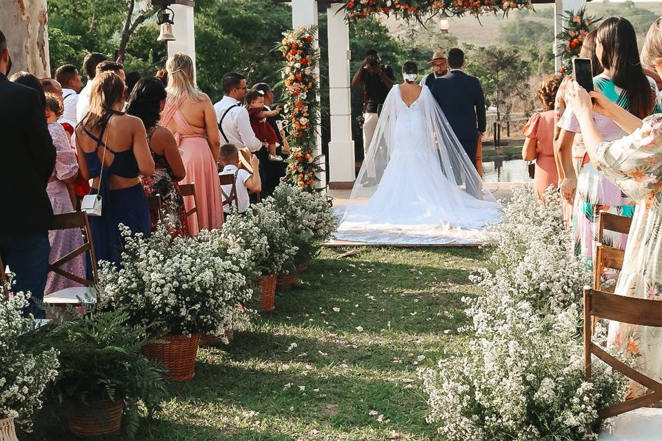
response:
[[[399,19],[420,19],[445,13],[450,17],[465,14],[508,14],[513,9],[533,9],[531,0],[345,0],[348,21],[376,14],[394,15]]]

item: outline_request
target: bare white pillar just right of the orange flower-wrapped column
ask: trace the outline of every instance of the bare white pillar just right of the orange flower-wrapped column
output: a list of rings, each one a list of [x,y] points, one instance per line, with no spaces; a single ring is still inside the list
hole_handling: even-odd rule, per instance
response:
[[[350,99],[350,30],[341,6],[341,3],[332,3],[327,13],[331,113],[329,187],[332,189],[351,188],[356,178]]]

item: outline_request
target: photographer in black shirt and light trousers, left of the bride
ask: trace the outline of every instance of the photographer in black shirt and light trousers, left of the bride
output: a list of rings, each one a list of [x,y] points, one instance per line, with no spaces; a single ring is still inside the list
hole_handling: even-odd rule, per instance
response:
[[[377,127],[381,107],[395,83],[393,70],[381,64],[379,52],[370,49],[365,60],[352,78],[352,86],[363,83],[363,153],[368,154],[374,129]],[[374,180],[374,170],[368,170],[368,178]]]

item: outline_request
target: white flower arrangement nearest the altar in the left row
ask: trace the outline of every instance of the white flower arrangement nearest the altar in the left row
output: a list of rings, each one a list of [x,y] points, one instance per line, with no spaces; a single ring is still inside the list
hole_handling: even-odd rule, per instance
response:
[[[298,248],[295,267],[308,264],[336,228],[336,218],[323,195],[304,192],[288,183],[276,187],[265,205],[280,214],[292,243]]]

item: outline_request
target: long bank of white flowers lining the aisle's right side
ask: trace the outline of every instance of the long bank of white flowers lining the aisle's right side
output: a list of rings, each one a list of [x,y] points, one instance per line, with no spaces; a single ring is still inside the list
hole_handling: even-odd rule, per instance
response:
[[[595,440],[596,409],[618,398],[620,376],[594,368],[583,379],[581,288],[589,280],[570,249],[560,202],[543,207],[514,191],[492,228],[494,273],[464,299],[474,336],[465,353],[423,371],[428,421],[451,441]]]

